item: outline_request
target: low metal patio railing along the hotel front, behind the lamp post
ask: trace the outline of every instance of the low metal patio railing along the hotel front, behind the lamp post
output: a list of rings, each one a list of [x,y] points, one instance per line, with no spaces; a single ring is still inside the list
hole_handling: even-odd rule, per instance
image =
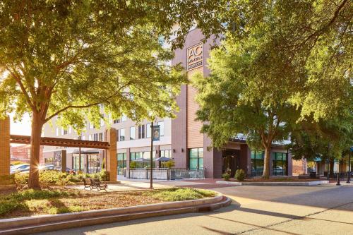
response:
[[[205,179],[204,169],[181,169],[181,168],[153,168],[153,179],[173,180],[173,179]],[[133,168],[126,169],[125,176],[128,179],[150,179],[150,169]]]

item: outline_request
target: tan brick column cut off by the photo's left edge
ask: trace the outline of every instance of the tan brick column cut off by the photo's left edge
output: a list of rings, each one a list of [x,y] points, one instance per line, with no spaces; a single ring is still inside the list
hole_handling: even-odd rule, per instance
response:
[[[0,176],[10,175],[10,119],[0,119]],[[2,177],[0,178],[1,183]]]

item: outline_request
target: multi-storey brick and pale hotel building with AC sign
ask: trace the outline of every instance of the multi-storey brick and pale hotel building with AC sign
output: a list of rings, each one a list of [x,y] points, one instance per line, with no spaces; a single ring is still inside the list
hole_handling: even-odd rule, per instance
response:
[[[184,48],[175,51],[172,64],[181,63],[187,71],[187,76],[192,76],[196,71],[208,76],[210,71],[207,59],[210,52],[210,39],[202,43],[201,30],[193,29],[186,37]],[[196,104],[194,97],[196,90],[191,85],[183,85],[181,94],[177,97],[180,111],[176,119],[158,119],[155,125],[160,126],[161,138],[155,141],[153,157],[170,157],[174,159],[175,167],[184,169],[205,169],[205,178],[220,178],[226,169],[231,175],[237,169],[244,169],[249,176],[260,176],[263,171],[262,151],[253,151],[241,138],[229,140],[222,150],[210,146],[211,140],[207,135],[200,133],[202,123],[195,121]],[[55,125],[44,126],[44,136],[58,138],[78,138],[71,128],[64,130]],[[122,116],[121,119],[112,120],[112,127],[116,128],[118,174],[129,166],[134,159],[150,157],[150,123],[143,121],[139,126]],[[87,123],[85,133],[80,137],[83,140],[104,140],[106,127],[93,128]],[[54,159],[57,147],[44,147],[44,162],[49,163]],[[78,158],[77,149],[66,149],[66,166],[84,171],[99,170],[104,161],[104,152],[97,150],[83,150],[81,159]],[[292,157],[282,145],[273,145],[271,152],[271,175],[292,175]],[[143,161],[140,167],[148,166]],[[158,167],[157,162],[155,167]],[[93,170],[91,170],[93,169]]]

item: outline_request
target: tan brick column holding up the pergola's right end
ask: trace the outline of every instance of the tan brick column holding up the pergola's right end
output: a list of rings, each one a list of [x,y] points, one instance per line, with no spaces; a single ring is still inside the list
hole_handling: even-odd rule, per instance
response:
[[[107,150],[107,171],[109,172],[109,181],[116,181],[118,161],[116,159],[116,129],[107,130],[107,142],[109,149]]]

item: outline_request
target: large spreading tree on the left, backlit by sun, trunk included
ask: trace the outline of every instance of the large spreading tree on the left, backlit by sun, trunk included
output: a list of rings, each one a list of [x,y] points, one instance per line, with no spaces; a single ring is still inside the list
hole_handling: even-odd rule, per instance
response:
[[[105,113],[139,121],[173,116],[185,82],[160,35],[172,18],[145,1],[10,1],[0,3],[0,115],[29,113],[30,188],[39,187],[42,126],[54,116],[76,131]],[[155,16],[157,14],[157,16]],[[165,24],[165,25],[164,25]]]

